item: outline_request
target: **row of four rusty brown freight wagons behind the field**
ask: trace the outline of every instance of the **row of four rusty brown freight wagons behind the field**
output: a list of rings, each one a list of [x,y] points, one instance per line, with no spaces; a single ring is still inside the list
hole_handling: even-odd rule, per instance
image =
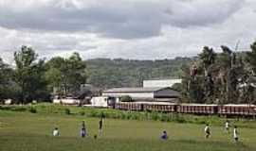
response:
[[[161,111],[204,115],[256,116],[255,105],[175,104],[166,102],[119,102],[115,109]]]

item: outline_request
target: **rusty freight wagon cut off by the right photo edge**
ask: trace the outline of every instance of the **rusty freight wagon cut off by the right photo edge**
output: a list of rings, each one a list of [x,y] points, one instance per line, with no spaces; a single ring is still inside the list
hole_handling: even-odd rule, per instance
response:
[[[222,105],[218,106],[218,113],[221,115],[256,115],[254,105]]]

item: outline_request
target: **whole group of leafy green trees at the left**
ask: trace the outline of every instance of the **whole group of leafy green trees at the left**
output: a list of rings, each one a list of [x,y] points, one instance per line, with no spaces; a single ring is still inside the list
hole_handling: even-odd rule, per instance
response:
[[[78,53],[46,61],[28,46],[14,53],[14,67],[0,59],[0,100],[16,103],[50,100],[52,92],[66,96],[86,81],[86,62]]]

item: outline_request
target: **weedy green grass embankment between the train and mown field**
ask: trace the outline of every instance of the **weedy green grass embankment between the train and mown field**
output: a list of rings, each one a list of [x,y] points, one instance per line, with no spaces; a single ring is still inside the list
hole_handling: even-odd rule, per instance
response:
[[[75,106],[53,105],[48,103],[30,105],[30,106],[2,106],[0,110],[11,110],[20,112],[31,112],[38,114],[66,114],[66,115],[81,115],[83,117],[104,116],[107,119],[121,119],[121,120],[137,120],[137,121],[161,121],[161,122],[175,122],[175,123],[189,123],[189,124],[210,124],[213,126],[223,126],[226,118],[220,118],[217,115],[210,116],[196,116],[191,114],[178,113],[164,113],[164,112],[149,112],[149,111],[125,111],[119,109],[92,109]],[[255,127],[255,120],[232,118],[229,119],[231,123],[236,123],[237,126]],[[248,125],[250,124],[250,125]]]

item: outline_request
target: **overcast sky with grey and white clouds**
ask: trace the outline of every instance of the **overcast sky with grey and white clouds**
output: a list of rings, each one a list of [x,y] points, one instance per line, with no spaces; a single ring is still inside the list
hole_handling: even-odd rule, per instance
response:
[[[21,45],[41,57],[171,59],[204,45],[248,50],[256,0],[0,0],[0,57]]]

